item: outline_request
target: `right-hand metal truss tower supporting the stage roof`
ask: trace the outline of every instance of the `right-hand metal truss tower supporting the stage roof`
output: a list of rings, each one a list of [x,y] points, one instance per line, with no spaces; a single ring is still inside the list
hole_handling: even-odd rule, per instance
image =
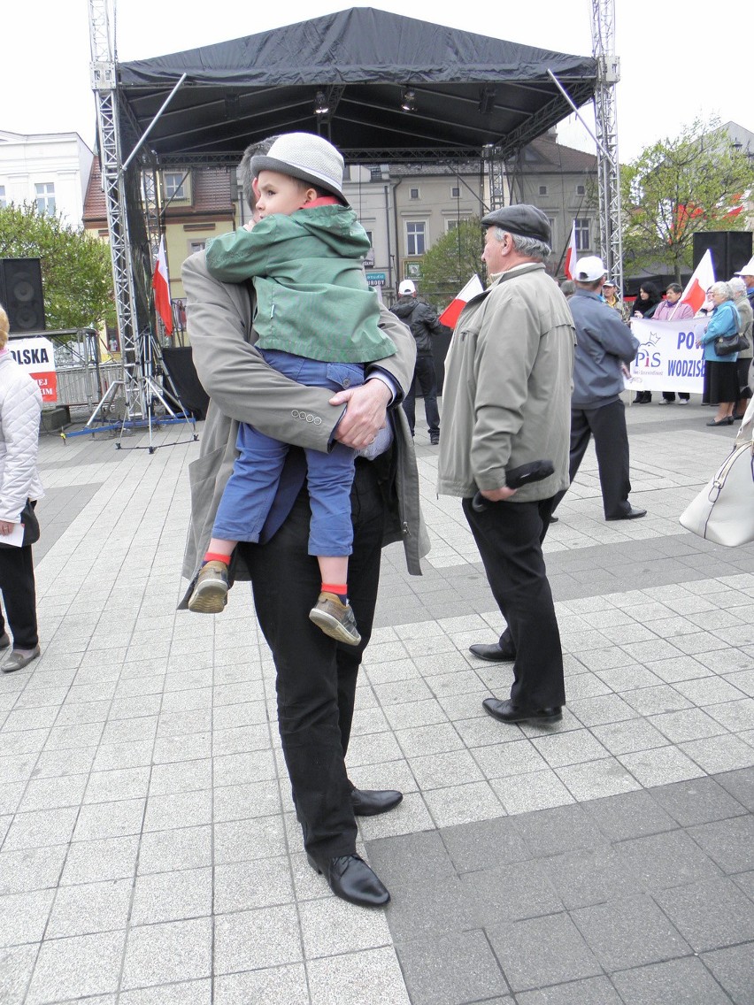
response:
[[[615,55],[615,0],[591,0],[592,55],[597,87],[594,119],[597,127],[597,183],[599,235],[605,267],[623,288],[623,250],[620,224],[620,165],[618,163],[615,84],[620,65]]]

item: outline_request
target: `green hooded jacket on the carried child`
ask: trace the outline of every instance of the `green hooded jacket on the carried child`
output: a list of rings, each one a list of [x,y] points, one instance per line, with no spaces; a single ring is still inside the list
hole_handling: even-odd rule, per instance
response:
[[[259,348],[370,363],[391,356],[395,345],[377,326],[379,301],[362,268],[368,250],[352,209],[317,206],[216,237],[207,267],[222,282],[253,278]]]

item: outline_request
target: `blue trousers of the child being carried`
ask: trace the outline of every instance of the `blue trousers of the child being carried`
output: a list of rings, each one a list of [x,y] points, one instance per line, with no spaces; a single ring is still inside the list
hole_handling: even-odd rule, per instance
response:
[[[269,366],[299,384],[341,391],[364,383],[359,363],[324,363],[279,350],[261,350]],[[257,542],[274,499],[289,444],[241,423],[238,456],[217,509],[212,537],[222,541]],[[351,554],[351,485],[356,452],[335,441],[330,453],[306,450],[307,482],[312,507],[309,554]]]

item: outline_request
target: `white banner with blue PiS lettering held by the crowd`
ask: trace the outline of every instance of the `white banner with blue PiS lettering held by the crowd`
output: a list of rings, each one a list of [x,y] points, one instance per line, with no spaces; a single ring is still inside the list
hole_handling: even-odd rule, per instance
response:
[[[630,391],[684,391],[701,394],[704,385],[704,349],[697,339],[709,319],[648,321],[634,319],[631,331],[639,346],[625,386]]]

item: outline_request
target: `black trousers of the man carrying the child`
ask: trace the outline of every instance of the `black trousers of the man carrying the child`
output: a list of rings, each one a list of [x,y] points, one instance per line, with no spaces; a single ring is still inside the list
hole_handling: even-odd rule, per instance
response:
[[[311,512],[302,491],[287,520],[263,545],[244,545],[254,607],[276,670],[277,721],[304,844],[315,858],[356,850],[352,783],[345,756],[356,679],[372,632],[385,507],[374,464],[357,459],[351,492],[354,522],[349,600],[361,633],[342,645],[309,620],[320,593],[317,559],[307,554]]]

